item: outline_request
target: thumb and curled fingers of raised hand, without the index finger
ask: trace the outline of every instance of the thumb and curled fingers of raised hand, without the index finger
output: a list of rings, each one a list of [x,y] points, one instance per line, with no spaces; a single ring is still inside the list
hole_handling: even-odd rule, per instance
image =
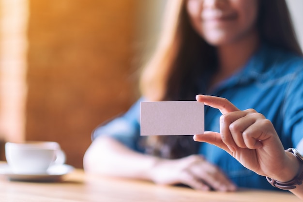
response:
[[[220,133],[205,132],[195,135],[195,141],[214,144],[228,153],[235,152],[238,147],[257,149],[274,134],[271,122],[254,109],[234,111],[220,118]]]

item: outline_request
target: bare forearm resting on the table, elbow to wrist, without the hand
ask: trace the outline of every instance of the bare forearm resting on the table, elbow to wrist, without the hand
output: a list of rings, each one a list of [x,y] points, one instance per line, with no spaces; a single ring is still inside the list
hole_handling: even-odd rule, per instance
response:
[[[151,180],[157,157],[137,153],[117,140],[99,137],[84,155],[84,170],[104,175]]]

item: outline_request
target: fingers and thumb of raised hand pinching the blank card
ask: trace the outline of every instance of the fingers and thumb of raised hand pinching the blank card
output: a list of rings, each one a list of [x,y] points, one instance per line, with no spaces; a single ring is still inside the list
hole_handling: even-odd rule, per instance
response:
[[[221,140],[228,149],[218,140],[218,136],[216,136],[216,141],[207,137],[206,142],[212,141],[212,144],[227,152],[234,152],[237,147],[256,149],[262,146],[260,136],[268,134],[268,131],[266,131],[268,127],[260,127],[260,124],[266,122],[262,114],[257,113],[254,109],[241,111],[227,99],[221,97],[197,95],[196,99],[199,102],[204,102],[205,105],[219,109],[223,114],[220,118],[220,133]],[[197,137],[196,139],[201,141]]]

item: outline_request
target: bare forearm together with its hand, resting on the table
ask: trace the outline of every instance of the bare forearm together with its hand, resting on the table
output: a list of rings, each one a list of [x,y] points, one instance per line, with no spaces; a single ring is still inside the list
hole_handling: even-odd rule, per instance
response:
[[[93,141],[84,155],[84,169],[91,173],[149,180],[160,185],[181,183],[199,190],[236,189],[220,169],[200,155],[158,158],[137,153],[108,137]]]

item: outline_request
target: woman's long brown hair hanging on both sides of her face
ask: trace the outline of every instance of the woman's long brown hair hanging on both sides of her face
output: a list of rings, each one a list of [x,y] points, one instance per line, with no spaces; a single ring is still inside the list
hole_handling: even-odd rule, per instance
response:
[[[259,0],[258,6],[257,28],[260,40],[274,47],[303,55],[285,0]],[[142,93],[151,100],[193,100],[197,94],[206,93],[209,79],[217,70],[216,50],[191,26],[185,1],[182,1],[176,14],[178,20],[170,44],[174,48],[167,47],[166,55],[169,57],[163,58],[163,60],[169,58],[169,61],[163,62],[160,57],[146,67],[148,70],[158,68],[157,71],[153,71],[154,74],[144,76],[144,73],[149,71],[143,71]],[[164,29],[166,27],[164,26]],[[159,50],[160,47],[156,49],[155,55],[157,51],[163,51]],[[165,76],[161,75],[161,72],[166,72],[163,74]],[[203,82],[201,75],[204,75]],[[159,77],[164,79],[163,85],[153,86],[152,84],[156,82],[151,81]],[[149,91],[150,89],[152,90]],[[152,97],[153,94],[149,92],[161,92],[161,96]],[[145,146],[147,153],[165,158],[197,154],[198,149],[198,143],[192,140],[192,136],[153,136],[147,139]]]

